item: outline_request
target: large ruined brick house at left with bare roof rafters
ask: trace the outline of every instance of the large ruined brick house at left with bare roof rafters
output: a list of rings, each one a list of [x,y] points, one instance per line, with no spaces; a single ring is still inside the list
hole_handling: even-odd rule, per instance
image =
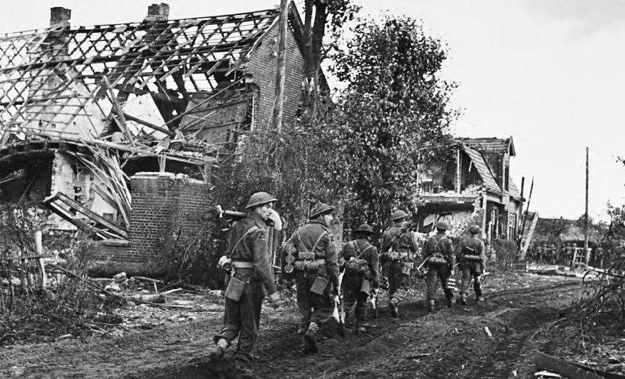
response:
[[[268,127],[275,98],[278,9],[168,14],[76,27],[56,7],[48,28],[0,35],[0,202],[43,203],[51,230],[91,233],[99,261],[143,273],[200,231],[212,167],[241,131]],[[285,124],[304,79],[288,14]]]

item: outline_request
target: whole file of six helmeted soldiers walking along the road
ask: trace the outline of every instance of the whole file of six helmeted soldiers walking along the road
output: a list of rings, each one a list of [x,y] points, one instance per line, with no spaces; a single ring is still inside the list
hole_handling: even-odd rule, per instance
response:
[[[232,270],[226,277],[224,325],[215,335],[210,359],[221,359],[238,337],[234,361],[236,375],[242,378],[253,376],[249,362],[259,335],[265,291],[272,306],[277,307],[281,302],[271,253],[267,251],[267,225],[277,215],[273,210],[275,201],[277,199],[264,192],[254,193],[249,198],[247,217],[232,225],[227,256],[220,260],[220,263],[228,262]],[[336,251],[330,229],[333,211],[334,207],[324,203],[314,206],[309,221],[292,234],[282,249],[282,271],[293,276],[296,283],[300,314],[297,333],[303,340],[304,351],[319,351],[319,330],[336,314],[335,303],[341,302],[347,309],[355,306],[353,330],[355,333],[364,331],[368,298],[372,292],[376,293],[383,276],[388,278],[388,313],[397,318],[418,258],[423,258],[421,266],[428,269],[426,295],[430,311],[435,311],[439,282],[448,306],[455,304],[453,286],[449,282],[456,266],[460,266],[463,278],[460,301],[464,305],[467,303],[471,281],[477,301],[483,300],[479,278],[485,271],[486,260],[479,227],[470,228],[471,236],[460,241],[457,255],[453,242],[446,235],[448,224],[438,222],[435,235],[419,252],[406,222],[408,213],[395,211],[391,215],[393,226],[381,238],[380,252],[372,241],[373,228],[367,224],[358,226],[353,240]]]

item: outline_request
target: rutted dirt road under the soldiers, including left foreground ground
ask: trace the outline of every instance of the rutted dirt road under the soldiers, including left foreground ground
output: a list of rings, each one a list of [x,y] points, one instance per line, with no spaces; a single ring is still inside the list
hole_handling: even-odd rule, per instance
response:
[[[557,320],[585,290],[572,278],[508,274],[487,283],[484,303],[428,313],[420,289],[401,318],[382,310],[368,333],[326,338],[319,355],[301,353],[294,308],[265,308],[254,372],[261,378],[507,378],[527,363],[521,353],[531,350],[527,342],[537,328]],[[212,378],[205,356],[221,321],[213,313],[119,338],[1,349],[0,376]]]

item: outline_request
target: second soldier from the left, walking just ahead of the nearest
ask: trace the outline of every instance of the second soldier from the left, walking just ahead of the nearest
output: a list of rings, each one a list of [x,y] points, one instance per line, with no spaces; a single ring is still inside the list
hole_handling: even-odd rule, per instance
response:
[[[329,229],[332,211],[334,207],[324,203],[314,206],[309,222],[297,229],[285,246],[285,253],[295,256],[297,307],[301,315],[297,333],[304,335],[309,353],[319,351],[316,334],[321,324],[332,317],[330,284],[333,295],[338,294],[339,288],[336,247]]]

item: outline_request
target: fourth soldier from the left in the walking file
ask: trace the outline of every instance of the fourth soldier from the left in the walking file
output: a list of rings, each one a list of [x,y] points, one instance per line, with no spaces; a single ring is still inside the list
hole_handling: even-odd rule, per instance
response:
[[[388,228],[382,236],[382,256],[388,277],[388,309],[391,317],[398,317],[399,303],[406,297],[410,285],[410,269],[417,253],[417,244],[408,230],[408,213],[395,211],[391,214],[394,226]]]

